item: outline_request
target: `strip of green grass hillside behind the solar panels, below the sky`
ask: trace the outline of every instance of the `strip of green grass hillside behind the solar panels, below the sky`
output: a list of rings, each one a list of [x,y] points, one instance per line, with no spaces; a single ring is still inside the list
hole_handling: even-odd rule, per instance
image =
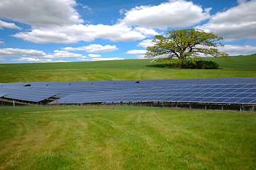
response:
[[[0,83],[256,77],[256,55],[232,59],[206,58],[222,69],[165,69],[152,60],[0,64]]]

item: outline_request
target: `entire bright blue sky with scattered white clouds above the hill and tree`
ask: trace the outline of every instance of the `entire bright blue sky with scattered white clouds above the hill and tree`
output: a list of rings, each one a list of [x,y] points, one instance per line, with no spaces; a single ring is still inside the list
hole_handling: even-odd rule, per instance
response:
[[[1,0],[0,63],[143,58],[154,35],[199,28],[256,53],[256,0]]]

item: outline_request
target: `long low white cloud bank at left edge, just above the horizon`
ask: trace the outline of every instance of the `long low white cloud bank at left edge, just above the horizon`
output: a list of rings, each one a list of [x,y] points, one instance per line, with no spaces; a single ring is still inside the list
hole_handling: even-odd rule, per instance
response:
[[[24,49],[14,49],[14,48],[2,48],[0,49],[0,57],[21,57],[19,60],[32,61],[30,58],[36,58],[39,60],[61,60],[61,59],[76,59],[84,57],[81,54],[75,54],[72,52],[55,50],[54,54],[46,54],[43,51],[38,50],[24,50]],[[17,61],[19,61],[17,60]],[[37,62],[37,61],[35,61]]]

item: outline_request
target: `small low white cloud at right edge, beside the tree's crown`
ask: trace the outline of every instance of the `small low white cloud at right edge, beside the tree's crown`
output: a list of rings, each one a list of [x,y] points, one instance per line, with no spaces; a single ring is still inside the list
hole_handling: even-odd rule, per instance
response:
[[[256,52],[256,47],[250,45],[225,45],[224,47],[218,47],[218,50],[229,55],[250,55]]]

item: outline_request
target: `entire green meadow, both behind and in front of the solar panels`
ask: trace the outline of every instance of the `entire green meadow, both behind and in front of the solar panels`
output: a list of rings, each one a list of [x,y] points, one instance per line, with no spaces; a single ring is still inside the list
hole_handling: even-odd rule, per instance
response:
[[[0,83],[256,77],[256,55],[221,69],[152,60],[0,64]],[[8,102],[6,102],[8,103]],[[0,169],[256,169],[252,111],[0,106]]]

